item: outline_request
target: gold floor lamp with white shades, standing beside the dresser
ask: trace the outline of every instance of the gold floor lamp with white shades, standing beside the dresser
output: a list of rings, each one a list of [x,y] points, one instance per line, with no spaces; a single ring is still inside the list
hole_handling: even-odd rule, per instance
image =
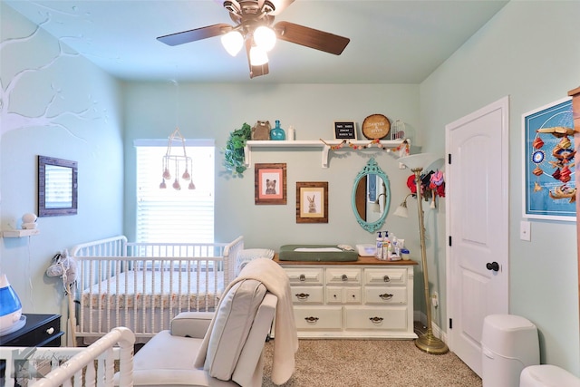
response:
[[[431,307],[430,307],[430,296],[429,296],[429,276],[427,275],[427,252],[425,250],[425,222],[423,220],[423,197],[420,192],[420,173],[423,169],[428,169],[436,161],[440,160],[440,157],[431,153],[419,153],[411,156],[405,156],[398,159],[401,164],[407,166],[415,174],[415,187],[417,189],[417,209],[419,212],[419,235],[420,235],[420,261],[421,266],[423,266],[423,290],[425,291],[425,304],[427,309],[427,333],[421,334],[417,339],[415,339],[415,345],[426,353],[432,354],[442,354],[447,353],[449,348],[446,343],[443,343],[440,338],[433,335],[433,328],[431,323]],[[407,218],[409,215],[407,213],[407,195],[401,206],[397,208],[394,215]]]

